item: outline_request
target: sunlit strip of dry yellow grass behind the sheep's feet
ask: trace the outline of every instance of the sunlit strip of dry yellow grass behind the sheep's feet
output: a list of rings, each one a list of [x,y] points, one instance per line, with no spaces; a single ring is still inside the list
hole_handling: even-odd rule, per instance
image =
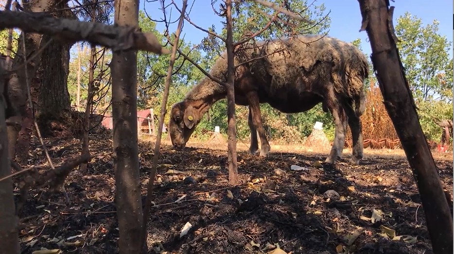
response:
[[[143,136],[141,138],[143,141],[150,141],[155,142],[156,138],[154,136]],[[161,144],[163,145],[172,145],[169,140],[162,139]],[[270,142],[271,145],[271,152],[278,153],[278,152],[289,152],[289,153],[299,153],[303,155],[319,155],[319,156],[328,156],[331,147],[329,148],[310,148],[303,145],[295,144],[295,145],[279,145],[273,144]],[[226,144],[206,144],[197,142],[195,140],[189,140],[186,145],[187,147],[194,147],[194,148],[206,148],[210,150],[221,150],[227,152],[227,143]],[[259,141],[259,148],[260,148],[260,141]],[[246,152],[249,149],[249,142],[243,142],[238,140],[237,142],[237,150],[238,152]],[[351,149],[344,148],[342,152],[343,157],[350,157],[351,156]],[[436,152],[432,151],[432,156],[436,160],[445,160],[445,161],[453,161],[453,153],[452,152]],[[403,149],[364,149],[364,157],[365,158],[389,158],[389,159],[397,159],[397,158],[405,158],[405,152]]]

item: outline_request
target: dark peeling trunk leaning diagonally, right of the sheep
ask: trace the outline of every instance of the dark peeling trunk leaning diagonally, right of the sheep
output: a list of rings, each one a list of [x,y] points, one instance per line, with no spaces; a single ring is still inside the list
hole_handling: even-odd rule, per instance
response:
[[[359,0],[359,4],[363,16],[360,31],[366,30],[370,39],[384,105],[415,175],[433,251],[453,253],[453,219],[396,46],[394,6],[388,9],[388,0]]]

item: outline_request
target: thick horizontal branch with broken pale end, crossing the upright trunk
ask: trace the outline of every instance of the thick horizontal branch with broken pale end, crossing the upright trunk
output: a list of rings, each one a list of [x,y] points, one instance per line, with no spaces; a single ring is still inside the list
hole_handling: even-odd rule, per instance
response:
[[[0,30],[6,28],[19,28],[26,33],[48,34],[64,41],[89,41],[112,51],[170,53],[162,47],[155,34],[141,33],[139,28],[55,18],[44,13],[0,11]]]

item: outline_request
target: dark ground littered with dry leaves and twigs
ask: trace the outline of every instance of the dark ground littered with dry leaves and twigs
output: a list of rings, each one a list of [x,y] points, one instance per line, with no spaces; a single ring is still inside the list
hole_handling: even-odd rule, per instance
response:
[[[19,237],[22,253],[42,248],[118,253],[112,140],[110,135],[91,138],[93,159],[87,175],[75,169],[66,182],[69,206],[59,194],[31,190],[20,213],[25,225]],[[46,143],[56,166],[77,156],[81,148],[76,139]],[[32,147],[29,164],[44,164],[38,140]],[[153,143],[140,144],[142,202],[153,149]],[[334,254],[336,249],[355,254],[432,253],[405,158],[369,156],[362,166],[349,166],[343,159],[333,167],[317,165],[325,157],[315,155],[238,156],[241,184],[229,186],[226,151],[161,149],[153,193],[156,206],[148,224],[147,240],[155,248],[150,253],[267,253],[275,246],[292,254]],[[453,163],[436,163],[443,187],[452,196]],[[304,169],[294,171],[291,165]],[[166,174],[169,169],[185,172]],[[192,228],[180,238],[187,222]]]

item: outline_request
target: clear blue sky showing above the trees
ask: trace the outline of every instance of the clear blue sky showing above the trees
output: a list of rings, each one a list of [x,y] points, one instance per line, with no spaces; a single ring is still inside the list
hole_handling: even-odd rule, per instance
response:
[[[214,14],[211,9],[210,0],[188,0],[189,6],[195,1],[192,11],[189,15],[192,22],[202,28],[209,28],[211,24],[214,24],[216,29],[222,28],[220,21],[221,17]],[[153,19],[161,19],[163,17],[160,8],[160,1],[147,2],[140,1],[140,9],[148,13]],[[166,0],[166,2],[171,2]],[[182,0],[175,0],[178,7],[181,8]],[[220,2],[220,0],[218,0]],[[309,1],[311,2],[311,1]],[[341,40],[351,42],[357,38],[361,38],[362,48],[367,54],[371,53],[370,44],[367,42],[367,33],[359,32],[361,27],[361,13],[359,10],[359,3],[357,0],[317,0],[315,5],[321,3],[325,4],[326,12],[331,10],[331,28],[329,35],[332,37],[339,38]],[[439,24],[439,33],[446,35],[449,41],[453,41],[453,1],[452,0],[395,0],[391,2],[392,6],[395,6],[394,10],[394,25],[397,23],[396,19],[403,15],[405,12],[409,12],[412,15],[416,15],[422,18],[424,24],[432,23],[434,19],[437,19]],[[215,4],[218,6],[218,3]],[[170,14],[170,7],[167,11],[167,16]],[[172,10],[172,20],[177,19],[178,13],[174,9]],[[177,22],[170,26],[170,30],[175,32]],[[157,29],[163,31],[165,29],[164,24],[158,23]],[[203,37],[206,36],[205,32],[198,30],[193,27],[189,22],[185,22],[183,28],[183,34],[185,40],[189,40],[194,44],[200,43]],[[453,56],[453,50],[451,48],[450,56]]]

